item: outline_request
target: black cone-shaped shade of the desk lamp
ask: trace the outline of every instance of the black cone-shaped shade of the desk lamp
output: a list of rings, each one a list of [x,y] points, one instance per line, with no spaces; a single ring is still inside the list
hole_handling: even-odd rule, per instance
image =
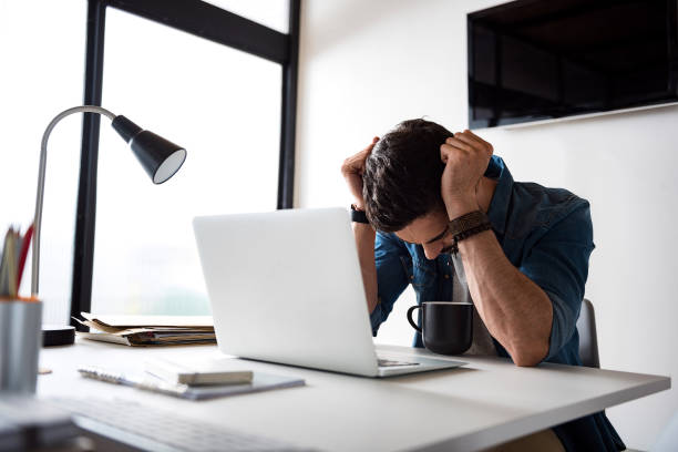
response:
[[[172,177],[186,160],[186,150],[182,146],[142,130],[125,116],[115,116],[111,125],[130,144],[154,184],[162,184]]]

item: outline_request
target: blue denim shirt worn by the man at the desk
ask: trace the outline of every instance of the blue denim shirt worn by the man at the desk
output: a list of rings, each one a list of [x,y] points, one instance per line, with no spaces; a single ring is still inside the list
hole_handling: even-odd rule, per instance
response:
[[[485,176],[497,185],[487,210],[492,229],[504,254],[517,269],[538,285],[553,306],[548,362],[581,366],[576,329],[588,257],[594,249],[588,202],[563,188],[545,188],[514,182],[504,161],[493,156]],[[377,331],[409,284],[417,302],[452,300],[454,266],[449,255],[425,258],[421,245],[408,244],[396,234],[378,233],[374,244],[379,304],[370,315]],[[511,358],[493,338],[501,357]],[[421,335],[414,347],[423,347]],[[623,450],[624,443],[604,413],[554,429],[566,450]],[[622,449],[619,449],[622,448]]]

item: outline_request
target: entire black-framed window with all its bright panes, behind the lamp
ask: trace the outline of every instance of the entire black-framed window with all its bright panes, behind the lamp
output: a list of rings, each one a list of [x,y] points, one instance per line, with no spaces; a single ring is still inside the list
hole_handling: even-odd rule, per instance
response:
[[[41,240],[44,320],[92,310],[93,275],[97,310],[205,312],[192,217],[291,207],[300,1],[23,3],[0,2],[11,162],[0,166],[0,225],[32,219],[41,135],[68,107],[103,105],[188,151],[177,177],[154,186],[109,120],[101,133],[95,115],[59,123]]]

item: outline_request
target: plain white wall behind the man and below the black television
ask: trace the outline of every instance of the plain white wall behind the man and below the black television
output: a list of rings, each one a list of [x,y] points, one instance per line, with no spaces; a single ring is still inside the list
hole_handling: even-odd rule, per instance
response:
[[[339,167],[404,119],[468,125],[465,14],[497,1],[307,0],[302,6],[297,198],[348,205]],[[586,295],[596,307],[602,366],[678,373],[678,107],[520,130],[481,130],[515,179],[590,201],[596,250]],[[408,345],[411,292],[379,340]],[[675,390],[608,410],[629,448],[649,449],[678,408]]]

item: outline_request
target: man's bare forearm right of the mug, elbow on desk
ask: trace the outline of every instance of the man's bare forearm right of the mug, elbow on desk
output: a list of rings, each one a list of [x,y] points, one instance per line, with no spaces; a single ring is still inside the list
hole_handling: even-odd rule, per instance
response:
[[[546,292],[515,268],[494,233],[459,243],[469,290],[487,330],[518,366],[534,366],[548,352],[553,307]]]

